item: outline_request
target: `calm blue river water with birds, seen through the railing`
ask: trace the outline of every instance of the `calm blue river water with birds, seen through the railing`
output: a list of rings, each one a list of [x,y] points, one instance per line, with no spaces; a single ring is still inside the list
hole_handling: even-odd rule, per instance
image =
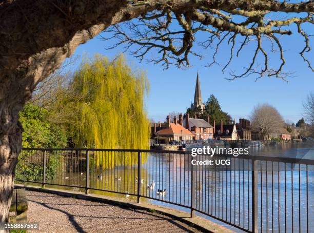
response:
[[[287,143],[263,146],[250,149],[250,154],[252,156],[314,159],[312,144]],[[198,158],[198,160],[205,159],[207,159],[205,156]],[[190,156],[185,154],[167,154],[166,156],[150,154],[145,157],[141,169],[144,181],[143,183],[139,181],[141,194],[145,197],[191,206],[190,161]],[[251,166],[249,161],[241,159],[231,160],[230,166],[194,166],[193,170],[196,175],[193,177],[193,183],[196,191],[193,206],[204,213],[251,229]],[[298,232],[301,227],[301,232],[303,232],[306,231],[308,218],[308,227],[311,231],[314,227],[314,201],[312,200],[314,166],[301,165],[299,167],[296,165],[291,167],[291,164],[286,164],[286,170],[283,163],[278,164],[277,162],[264,162],[259,166],[261,166],[259,169],[262,170],[258,175],[259,222],[262,223],[262,228],[260,226],[259,230],[266,232],[273,229],[273,231],[279,232],[280,228],[280,231],[291,232],[293,223],[293,231]],[[85,171],[73,167],[71,169],[73,171],[70,173],[67,172],[67,169],[64,169],[64,172],[62,170],[58,172],[58,176],[53,181],[50,181],[51,183],[85,186]],[[81,174],[81,172],[83,173]],[[137,174],[137,165],[116,166],[114,169],[106,170],[95,168],[90,172],[89,185],[96,189],[136,193],[138,183],[136,183],[135,177]],[[118,179],[119,177],[121,180]],[[155,183],[154,189],[147,188],[147,184],[152,182]],[[78,190],[77,188],[72,189]],[[166,189],[166,195],[159,196],[156,193],[157,189]],[[102,191],[97,190],[92,192],[103,194]],[[106,192],[106,195],[125,197],[125,195],[109,192]],[[132,200],[135,198],[129,197]],[[184,207],[155,200],[145,199],[144,201],[187,210]],[[236,230],[234,227],[232,229]]]

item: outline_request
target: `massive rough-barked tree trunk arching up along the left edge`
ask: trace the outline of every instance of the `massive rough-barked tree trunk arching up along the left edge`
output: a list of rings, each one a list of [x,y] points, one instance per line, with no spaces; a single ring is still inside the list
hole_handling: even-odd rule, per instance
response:
[[[71,19],[54,2],[0,3],[4,19],[0,22],[0,222],[8,220],[15,166],[22,147],[18,112],[30,100],[36,85],[60,67],[78,45],[125,18],[121,14],[113,20],[126,0],[102,0],[95,5],[74,2],[66,6],[76,12]],[[82,14],[82,10],[86,12]]]

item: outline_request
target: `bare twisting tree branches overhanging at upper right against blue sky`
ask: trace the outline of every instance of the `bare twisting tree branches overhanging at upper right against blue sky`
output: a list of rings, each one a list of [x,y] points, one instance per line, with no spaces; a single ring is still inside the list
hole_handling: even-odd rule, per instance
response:
[[[163,3],[161,3],[163,2]],[[174,2],[174,1],[173,1]],[[185,8],[178,8],[172,1],[136,1],[132,2],[129,9],[133,7],[155,6],[153,11],[142,13],[138,20],[112,26],[107,32],[109,37],[102,37],[103,40],[114,38],[115,43],[108,49],[123,45],[124,50],[130,50],[131,54],[140,59],[155,64],[161,64],[168,68],[169,65],[178,67],[189,66],[189,56],[194,55],[202,58],[201,52],[192,50],[196,41],[196,34],[207,33],[207,39],[198,42],[204,48],[213,48],[212,62],[217,61],[219,48],[224,41],[231,44],[230,56],[226,65],[222,67],[224,72],[233,60],[235,48],[238,41],[244,40],[237,48],[237,57],[240,51],[249,44],[256,46],[252,60],[245,71],[240,74],[230,72],[229,80],[248,75],[257,75],[257,79],[262,76],[274,76],[285,80],[293,72],[284,71],[286,64],[284,49],[278,35],[291,35],[291,25],[297,25],[298,33],[304,37],[305,47],[300,52],[302,59],[309,69],[314,71],[305,53],[310,51],[309,34],[302,30],[301,25],[313,25],[313,2],[288,3],[277,1],[186,1]],[[299,17],[279,17],[270,13],[274,12],[306,12],[307,16]],[[236,18],[237,17],[237,18]],[[240,19],[239,19],[240,18]],[[264,44],[271,43],[268,51]],[[265,48],[264,48],[265,47]],[[274,49],[278,47],[278,50]],[[156,51],[156,52],[155,52]],[[269,53],[279,51],[281,61],[278,68],[273,68],[269,64]],[[261,54],[263,66],[258,65]],[[149,57],[151,56],[151,57]]]

